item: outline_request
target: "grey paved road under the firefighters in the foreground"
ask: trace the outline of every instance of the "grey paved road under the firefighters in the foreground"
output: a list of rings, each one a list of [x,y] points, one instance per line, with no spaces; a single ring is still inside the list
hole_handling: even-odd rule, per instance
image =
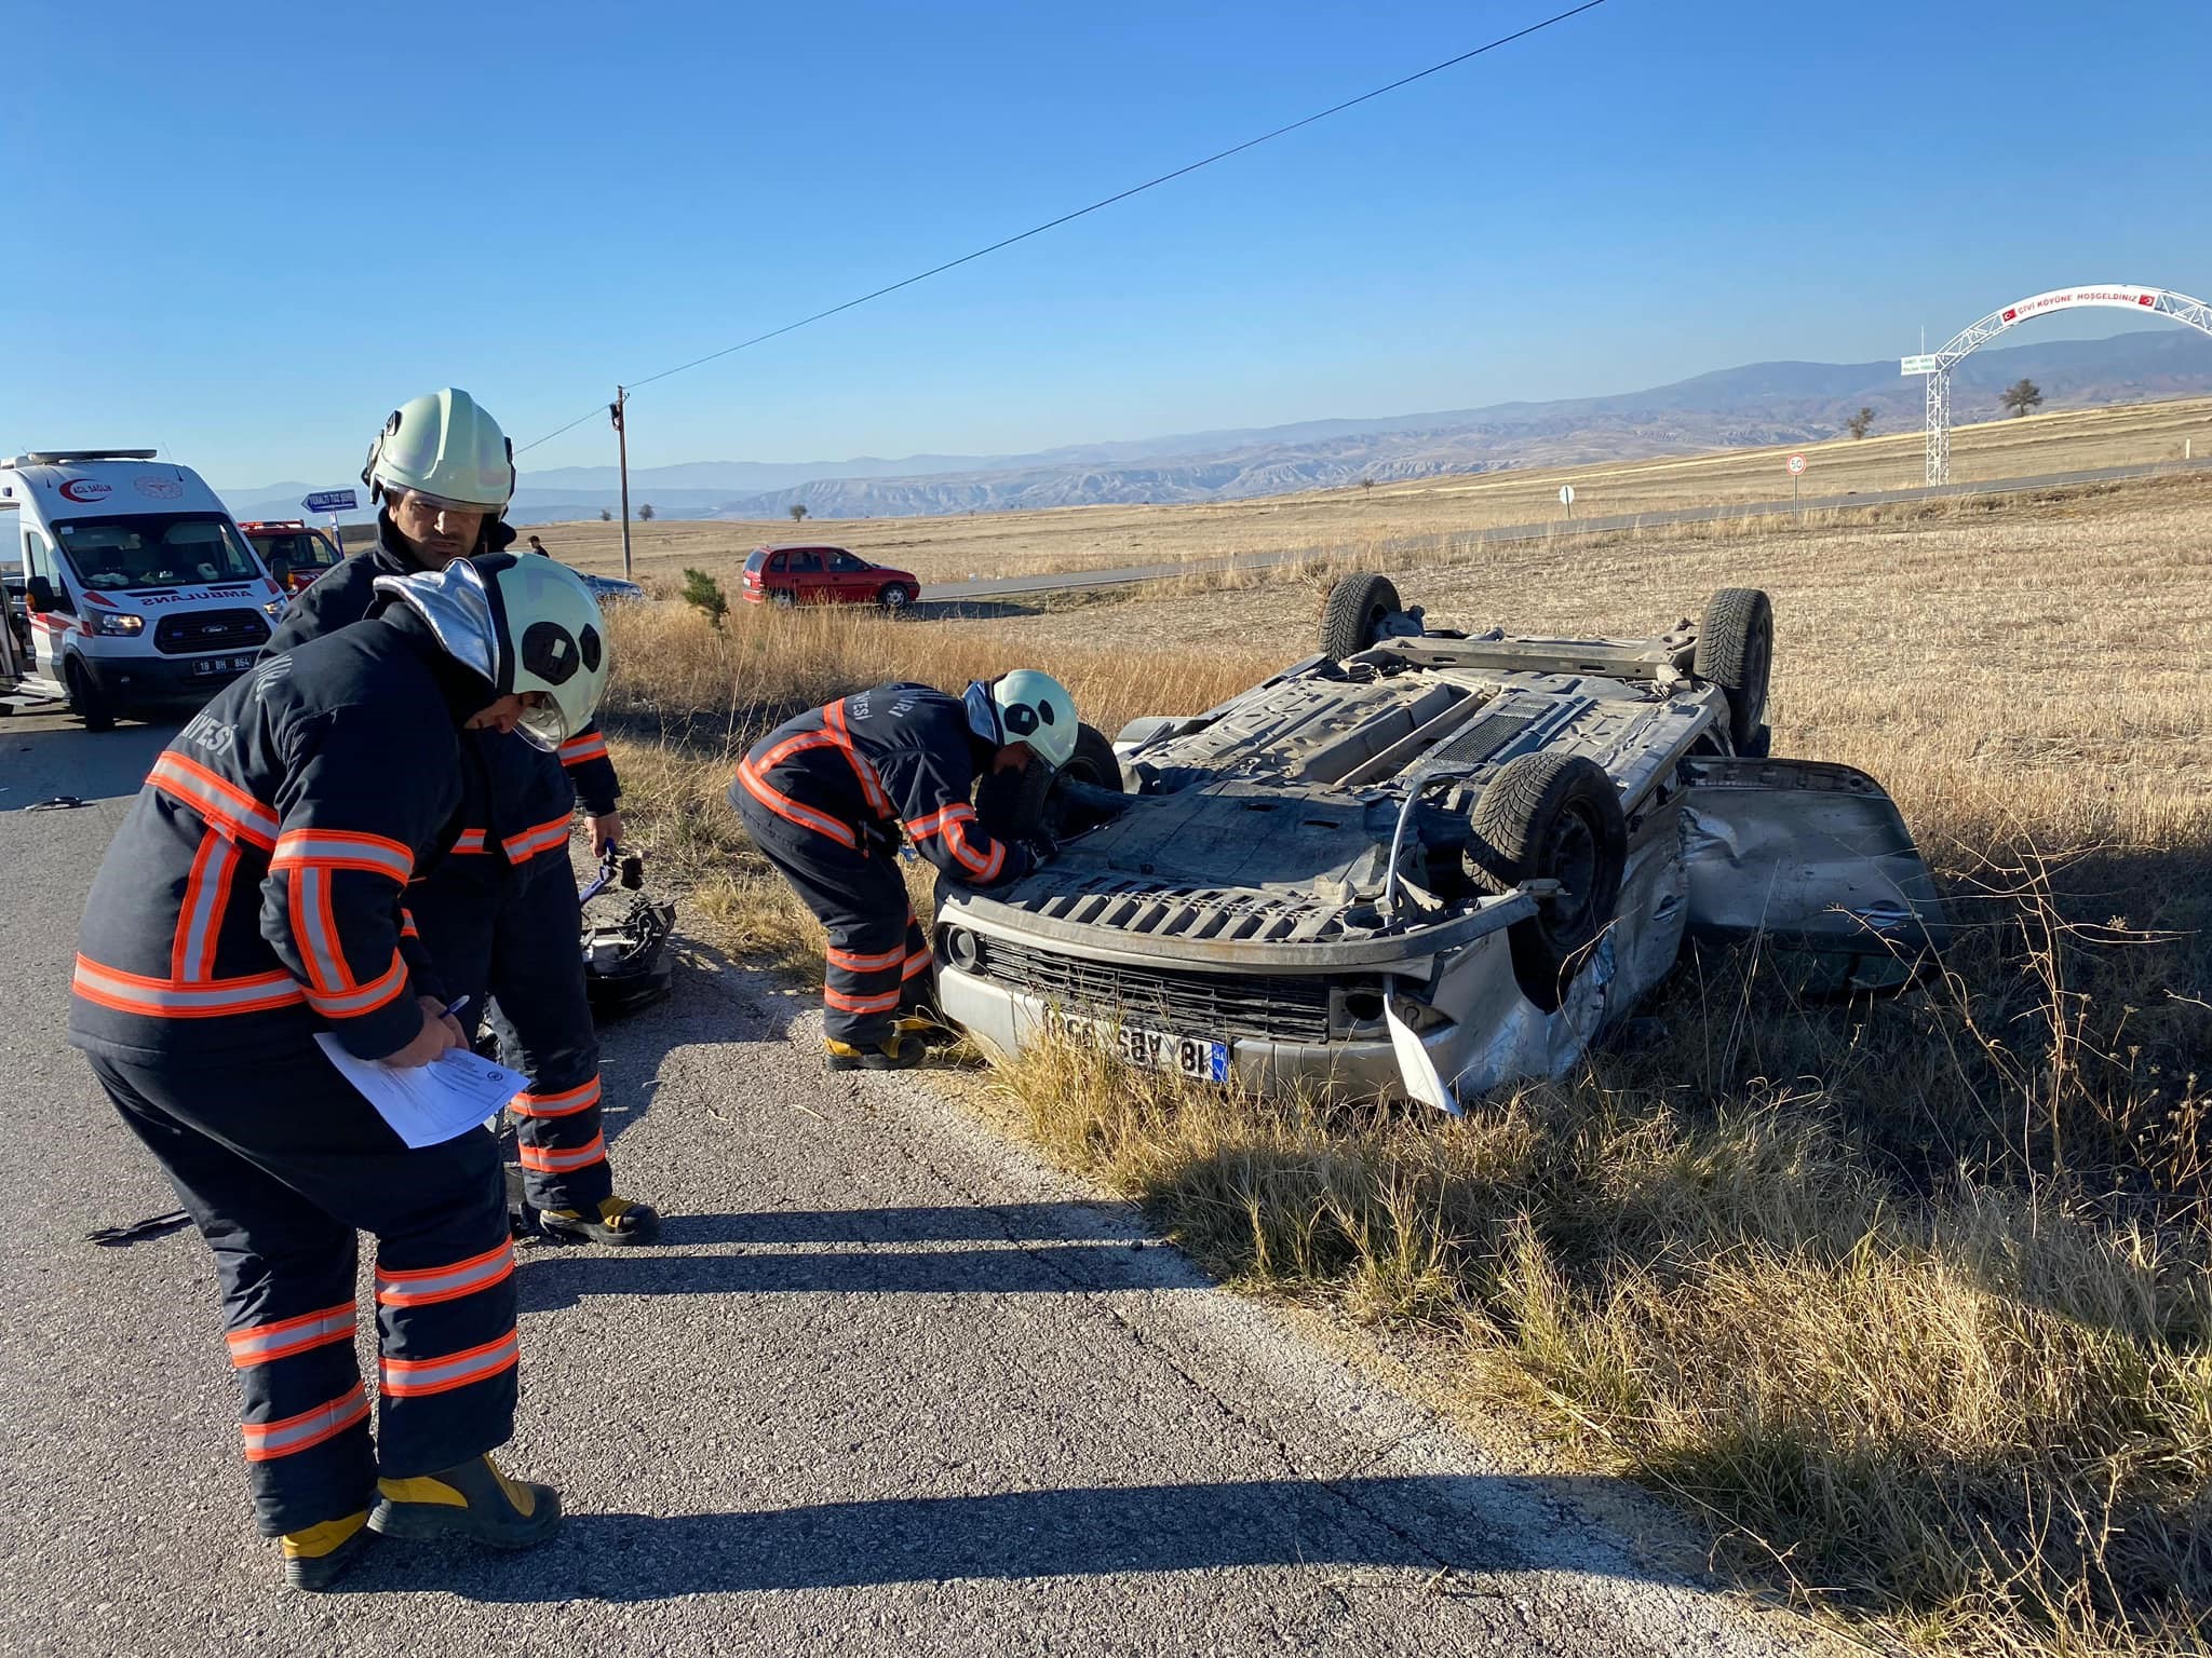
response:
[[[1668,1536],[1644,1499],[1515,1477],[929,1085],[825,1079],[807,997],[703,951],[608,1032],[617,1167],[666,1245],[522,1267],[511,1461],[562,1488],[564,1534],[272,1587],[206,1249],[84,1240],[173,1207],[62,1043],[77,911],[159,736],[0,721],[7,1651],[1825,1647],[1599,1517]],[[91,805],[4,809],[49,794]]]

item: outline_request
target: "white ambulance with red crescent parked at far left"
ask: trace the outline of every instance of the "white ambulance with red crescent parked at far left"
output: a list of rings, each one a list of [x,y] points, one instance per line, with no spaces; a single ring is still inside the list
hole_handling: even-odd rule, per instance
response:
[[[117,714],[197,707],[252,665],[285,606],[215,491],[153,455],[0,460],[0,559],[13,542],[22,562],[9,586],[22,584],[24,690],[66,696],[93,732]]]

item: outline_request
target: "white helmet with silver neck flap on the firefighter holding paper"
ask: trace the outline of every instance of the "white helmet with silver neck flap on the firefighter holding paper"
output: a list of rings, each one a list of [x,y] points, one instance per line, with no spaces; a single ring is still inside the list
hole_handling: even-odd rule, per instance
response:
[[[613,670],[606,623],[566,564],[482,553],[442,570],[380,575],[376,590],[420,612],[493,694],[535,692],[515,730],[538,747],[557,749],[597,712]]]

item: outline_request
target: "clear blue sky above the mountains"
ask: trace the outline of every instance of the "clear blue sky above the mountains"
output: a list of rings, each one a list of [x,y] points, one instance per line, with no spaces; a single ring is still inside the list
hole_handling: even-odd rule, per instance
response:
[[[635,380],[1564,0],[226,4],[9,24],[0,453],[345,484]],[[2212,46],[2042,0],[1608,0],[653,385],[630,460],[1013,453],[1860,360],[2081,281],[2212,292]],[[2077,312],[2022,338],[2110,332]],[[613,458],[604,418],[524,455]]]

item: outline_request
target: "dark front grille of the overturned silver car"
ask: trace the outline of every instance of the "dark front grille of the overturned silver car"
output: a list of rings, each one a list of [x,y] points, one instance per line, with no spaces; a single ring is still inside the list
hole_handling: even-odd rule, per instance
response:
[[[1192,973],[1086,962],[1077,955],[973,933],[971,973],[1064,1012],[1157,1024],[1181,1037],[1329,1039],[1329,979],[1272,973]]]

